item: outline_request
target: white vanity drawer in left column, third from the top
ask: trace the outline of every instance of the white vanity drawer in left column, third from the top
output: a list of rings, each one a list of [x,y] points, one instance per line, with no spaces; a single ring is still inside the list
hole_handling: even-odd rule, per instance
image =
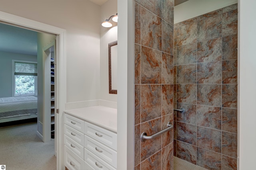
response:
[[[64,135],[64,144],[75,154],[80,156],[80,158],[84,159],[84,147],[82,145],[72,140],[67,135]]]

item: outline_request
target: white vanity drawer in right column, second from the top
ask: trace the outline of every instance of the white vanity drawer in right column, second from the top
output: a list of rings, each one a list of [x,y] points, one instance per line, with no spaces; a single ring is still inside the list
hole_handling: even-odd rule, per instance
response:
[[[115,150],[106,147],[106,145],[95,141],[87,135],[84,135],[84,147],[111,166],[114,166],[114,168],[117,168],[117,153]]]

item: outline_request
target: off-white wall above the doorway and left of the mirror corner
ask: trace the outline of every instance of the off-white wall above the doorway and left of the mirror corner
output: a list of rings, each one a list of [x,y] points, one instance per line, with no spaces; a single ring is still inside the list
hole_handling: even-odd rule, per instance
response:
[[[67,102],[100,98],[100,6],[88,0],[2,0],[0,11],[66,29]]]

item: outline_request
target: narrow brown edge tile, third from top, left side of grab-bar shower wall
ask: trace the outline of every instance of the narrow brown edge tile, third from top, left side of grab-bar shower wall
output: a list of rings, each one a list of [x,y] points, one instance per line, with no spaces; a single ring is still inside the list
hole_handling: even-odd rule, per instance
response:
[[[140,123],[140,84],[135,84],[134,87],[134,123]]]

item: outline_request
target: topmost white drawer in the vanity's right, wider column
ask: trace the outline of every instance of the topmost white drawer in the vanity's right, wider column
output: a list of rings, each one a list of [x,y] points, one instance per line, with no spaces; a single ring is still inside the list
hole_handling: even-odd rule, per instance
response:
[[[116,150],[117,148],[117,135],[112,131],[108,131],[92,123],[84,122],[84,134],[111,149]]]

